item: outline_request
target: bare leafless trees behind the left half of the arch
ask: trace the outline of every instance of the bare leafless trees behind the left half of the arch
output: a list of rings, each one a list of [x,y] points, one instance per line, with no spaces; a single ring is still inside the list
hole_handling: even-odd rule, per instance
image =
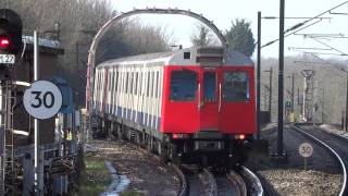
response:
[[[88,48],[97,30],[117,12],[110,0],[2,0],[0,7],[16,11],[24,34],[40,30],[41,38],[52,35],[53,24],[60,24],[60,46],[65,50],[60,57],[62,74],[70,81],[83,105]],[[97,62],[123,56],[167,50],[169,37],[164,29],[124,20],[108,32],[97,50]],[[76,56],[78,60],[76,61]]]

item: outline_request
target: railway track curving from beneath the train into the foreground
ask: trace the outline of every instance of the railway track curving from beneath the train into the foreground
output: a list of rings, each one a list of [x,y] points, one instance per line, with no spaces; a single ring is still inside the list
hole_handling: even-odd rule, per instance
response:
[[[110,148],[109,144],[104,144],[102,142],[95,142],[95,144],[99,144],[101,148]],[[134,148],[137,148],[142,154],[151,156],[159,162],[162,162],[159,156],[150,154],[146,149],[138,148],[136,145],[128,145],[133,146]],[[238,172],[231,170],[225,173],[211,172],[206,168],[199,171],[197,167],[178,168],[177,166],[172,163],[169,163],[169,167],[176,173],[179,180],[181,186],[177,191],[178,196],[261,196],[263,194],[263,189],[258,177],[245,167],[241,167],[241,169]]]

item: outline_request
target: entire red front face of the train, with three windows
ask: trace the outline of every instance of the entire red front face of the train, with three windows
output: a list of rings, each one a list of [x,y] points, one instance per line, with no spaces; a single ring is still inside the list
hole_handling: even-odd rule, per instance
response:
[[[166,66],[161,132],[254,133],[253,82],[252,66]]]

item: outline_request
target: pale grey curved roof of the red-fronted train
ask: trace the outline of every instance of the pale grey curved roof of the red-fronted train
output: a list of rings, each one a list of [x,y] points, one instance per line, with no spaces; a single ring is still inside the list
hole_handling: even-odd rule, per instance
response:
[[[227,57],[223,59],[224,57]],[[224,62],[223,62],[224,61]],[[98,68],[113,65],[134,65],[144,63],[163,62],[164,65],[243,65],[253,66],[252,60],[238,52],[231,51],[225,56],[222,47],[206,46],[191,47],[170,52],[146,53],[125,57],[102,62]]]

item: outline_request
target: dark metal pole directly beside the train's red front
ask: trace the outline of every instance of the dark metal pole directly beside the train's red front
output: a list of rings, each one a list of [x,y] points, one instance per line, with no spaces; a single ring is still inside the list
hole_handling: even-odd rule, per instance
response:
[[[260,139],[261,12],[258,12],[257,139]]]

